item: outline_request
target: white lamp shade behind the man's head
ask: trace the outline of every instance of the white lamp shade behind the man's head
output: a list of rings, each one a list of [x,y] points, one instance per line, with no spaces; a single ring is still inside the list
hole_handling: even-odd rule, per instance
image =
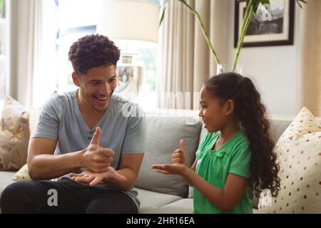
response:
[[[106,0],[99,9],[97,33],[111,39],[157,43],[158,19],[158,4],[143,0]]]

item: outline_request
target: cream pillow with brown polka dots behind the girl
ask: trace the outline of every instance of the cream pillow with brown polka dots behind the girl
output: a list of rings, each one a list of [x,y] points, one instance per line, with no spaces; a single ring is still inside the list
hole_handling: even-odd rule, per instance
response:
[[[281,190],[260,213],[321,213],[321,124],[302,108],[275,146]],[[268,202],[268,203],[267,203]]]

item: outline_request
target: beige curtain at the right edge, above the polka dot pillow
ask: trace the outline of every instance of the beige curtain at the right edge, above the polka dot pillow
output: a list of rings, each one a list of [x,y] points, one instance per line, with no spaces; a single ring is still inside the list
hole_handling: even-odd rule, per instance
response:
[[[297,78],[300,81],[297,111],[303,106],[321,115],[321,1],[306,0],[299,11]]]

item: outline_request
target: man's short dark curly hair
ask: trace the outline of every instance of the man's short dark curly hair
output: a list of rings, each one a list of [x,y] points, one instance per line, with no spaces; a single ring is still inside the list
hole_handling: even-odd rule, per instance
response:
[[[120,51],[115,43],[106,36],[92,34],[79,38],[71,46],[68,57],[77,73],[87,73],[97,66],[115,65]]]

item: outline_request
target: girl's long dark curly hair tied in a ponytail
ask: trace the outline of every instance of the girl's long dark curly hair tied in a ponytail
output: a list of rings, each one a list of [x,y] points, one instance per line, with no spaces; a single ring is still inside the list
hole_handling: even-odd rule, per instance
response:
[[[240,120],[249,140],[249,182],[252,192],[259,197],[262,190],[269,189],[272,196],[277,196],[280,190],[280,177],[277,172],[280,167],[275,163],[275,143],[270,137],[270,123],[265,115],[265,106],[253,82],[238,73],[221,73],[205,81],[205,89],[223,102],[231,99],[235,103],[234,115]]]

